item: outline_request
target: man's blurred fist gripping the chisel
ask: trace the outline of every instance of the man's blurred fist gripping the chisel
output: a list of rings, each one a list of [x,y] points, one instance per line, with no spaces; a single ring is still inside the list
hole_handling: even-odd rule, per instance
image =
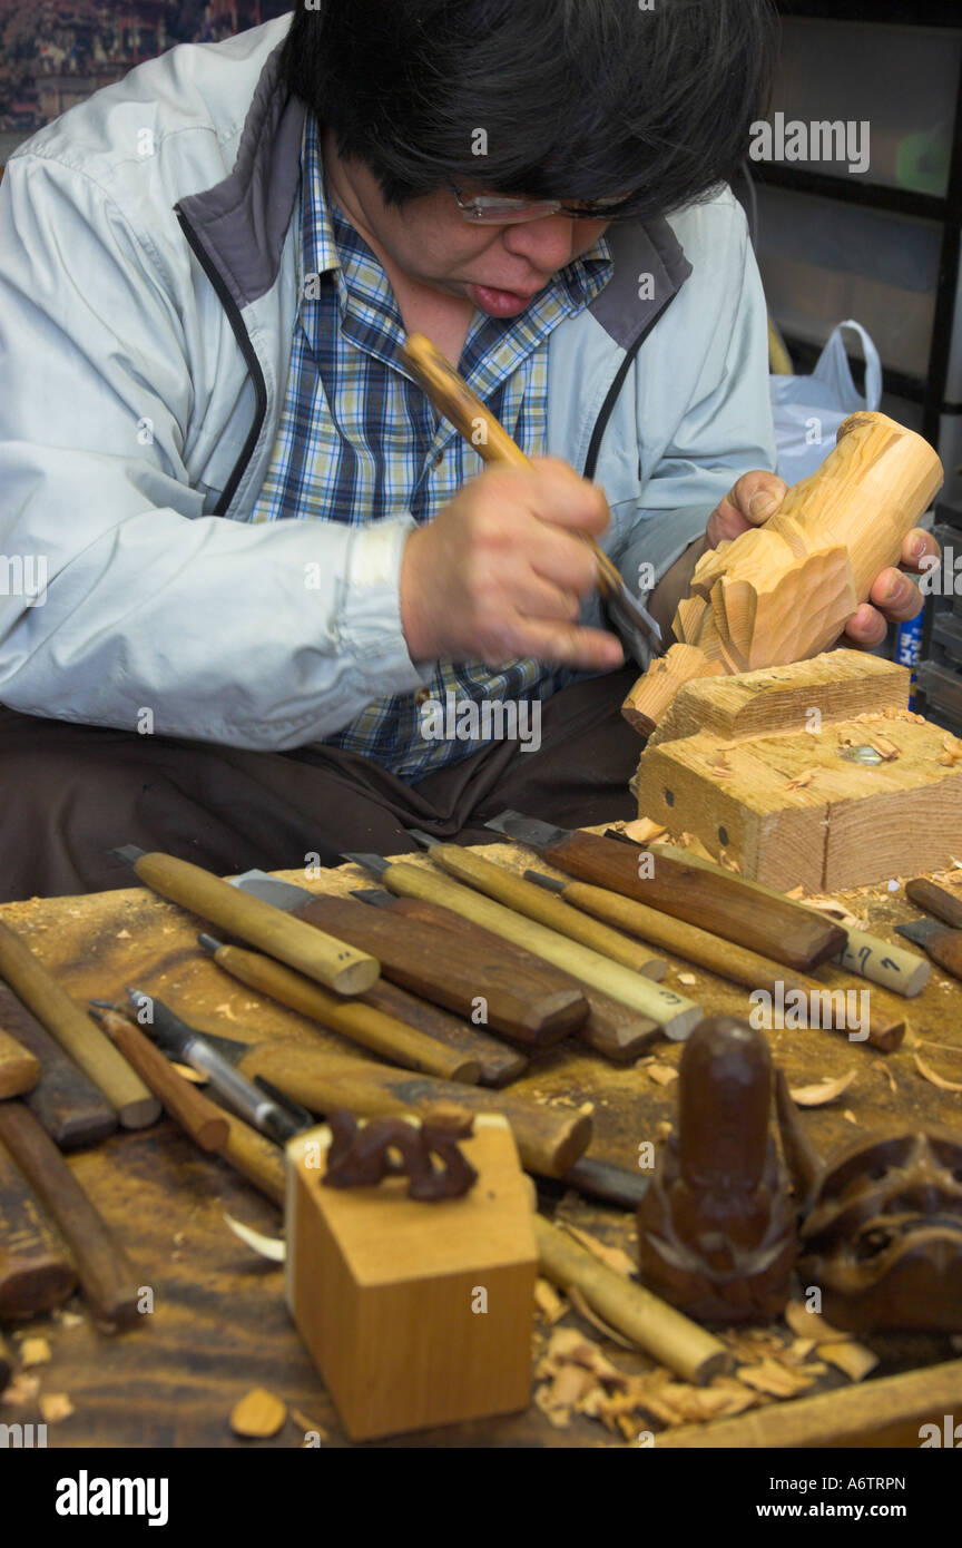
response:
[[[577,534],[597,537],[608,520],[602,491],[554,457],[473,478],[407,540],[401,621],[411,659],[620,667],[616,636],[577,624],[597,584]]]

